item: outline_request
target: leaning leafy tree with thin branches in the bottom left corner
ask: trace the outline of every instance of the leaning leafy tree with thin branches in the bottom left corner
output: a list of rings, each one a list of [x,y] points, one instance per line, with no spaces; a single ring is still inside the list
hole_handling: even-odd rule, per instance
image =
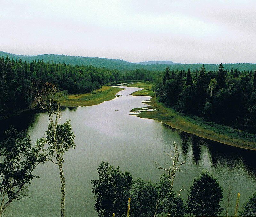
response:
[[[0,217],[14,200],[29,197],[28,186],[38,178],[33,171],[48,156],[44,138],[32,146],[26,131],[11,128],[5,134],[0,144]]]

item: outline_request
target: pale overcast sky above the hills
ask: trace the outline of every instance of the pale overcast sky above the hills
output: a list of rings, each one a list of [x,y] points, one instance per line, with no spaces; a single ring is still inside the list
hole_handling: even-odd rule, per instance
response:
[[[0,51],[256,63],[252,0],[0,0]]]

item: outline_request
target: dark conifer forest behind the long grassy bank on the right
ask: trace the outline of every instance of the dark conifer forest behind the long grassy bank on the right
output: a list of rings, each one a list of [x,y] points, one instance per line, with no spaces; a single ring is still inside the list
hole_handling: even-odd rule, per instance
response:
[[[156,81],[156,96],[177,111],[256,133],[256,70],[170,71]]]

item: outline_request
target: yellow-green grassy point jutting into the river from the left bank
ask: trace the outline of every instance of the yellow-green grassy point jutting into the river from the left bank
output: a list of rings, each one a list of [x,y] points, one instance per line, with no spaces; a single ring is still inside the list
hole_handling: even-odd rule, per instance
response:
[[[97,105],[104,101],[112,100],[116,93],[124,90],[119,87],[103,86],[99,90],[92,91],[88,94],[68,95],[66,92],[60,98],[60,105],[67,107],[91,106]]]

